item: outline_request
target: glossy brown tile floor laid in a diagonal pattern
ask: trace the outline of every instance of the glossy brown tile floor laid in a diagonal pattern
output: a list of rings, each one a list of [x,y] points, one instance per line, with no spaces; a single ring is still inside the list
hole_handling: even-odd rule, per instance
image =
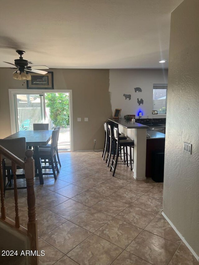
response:
[[[35,179],[39,249],[45,251],[39,264],[198,264],[160,213],[162,183],[135,180],[123,165],[112,177],[101,155],[60,153],[58,179],[44,176],[44,185]],[[26,227],[26,190],[18,190],[18,201]],[[14,218],[12,191],[5,205]]]

